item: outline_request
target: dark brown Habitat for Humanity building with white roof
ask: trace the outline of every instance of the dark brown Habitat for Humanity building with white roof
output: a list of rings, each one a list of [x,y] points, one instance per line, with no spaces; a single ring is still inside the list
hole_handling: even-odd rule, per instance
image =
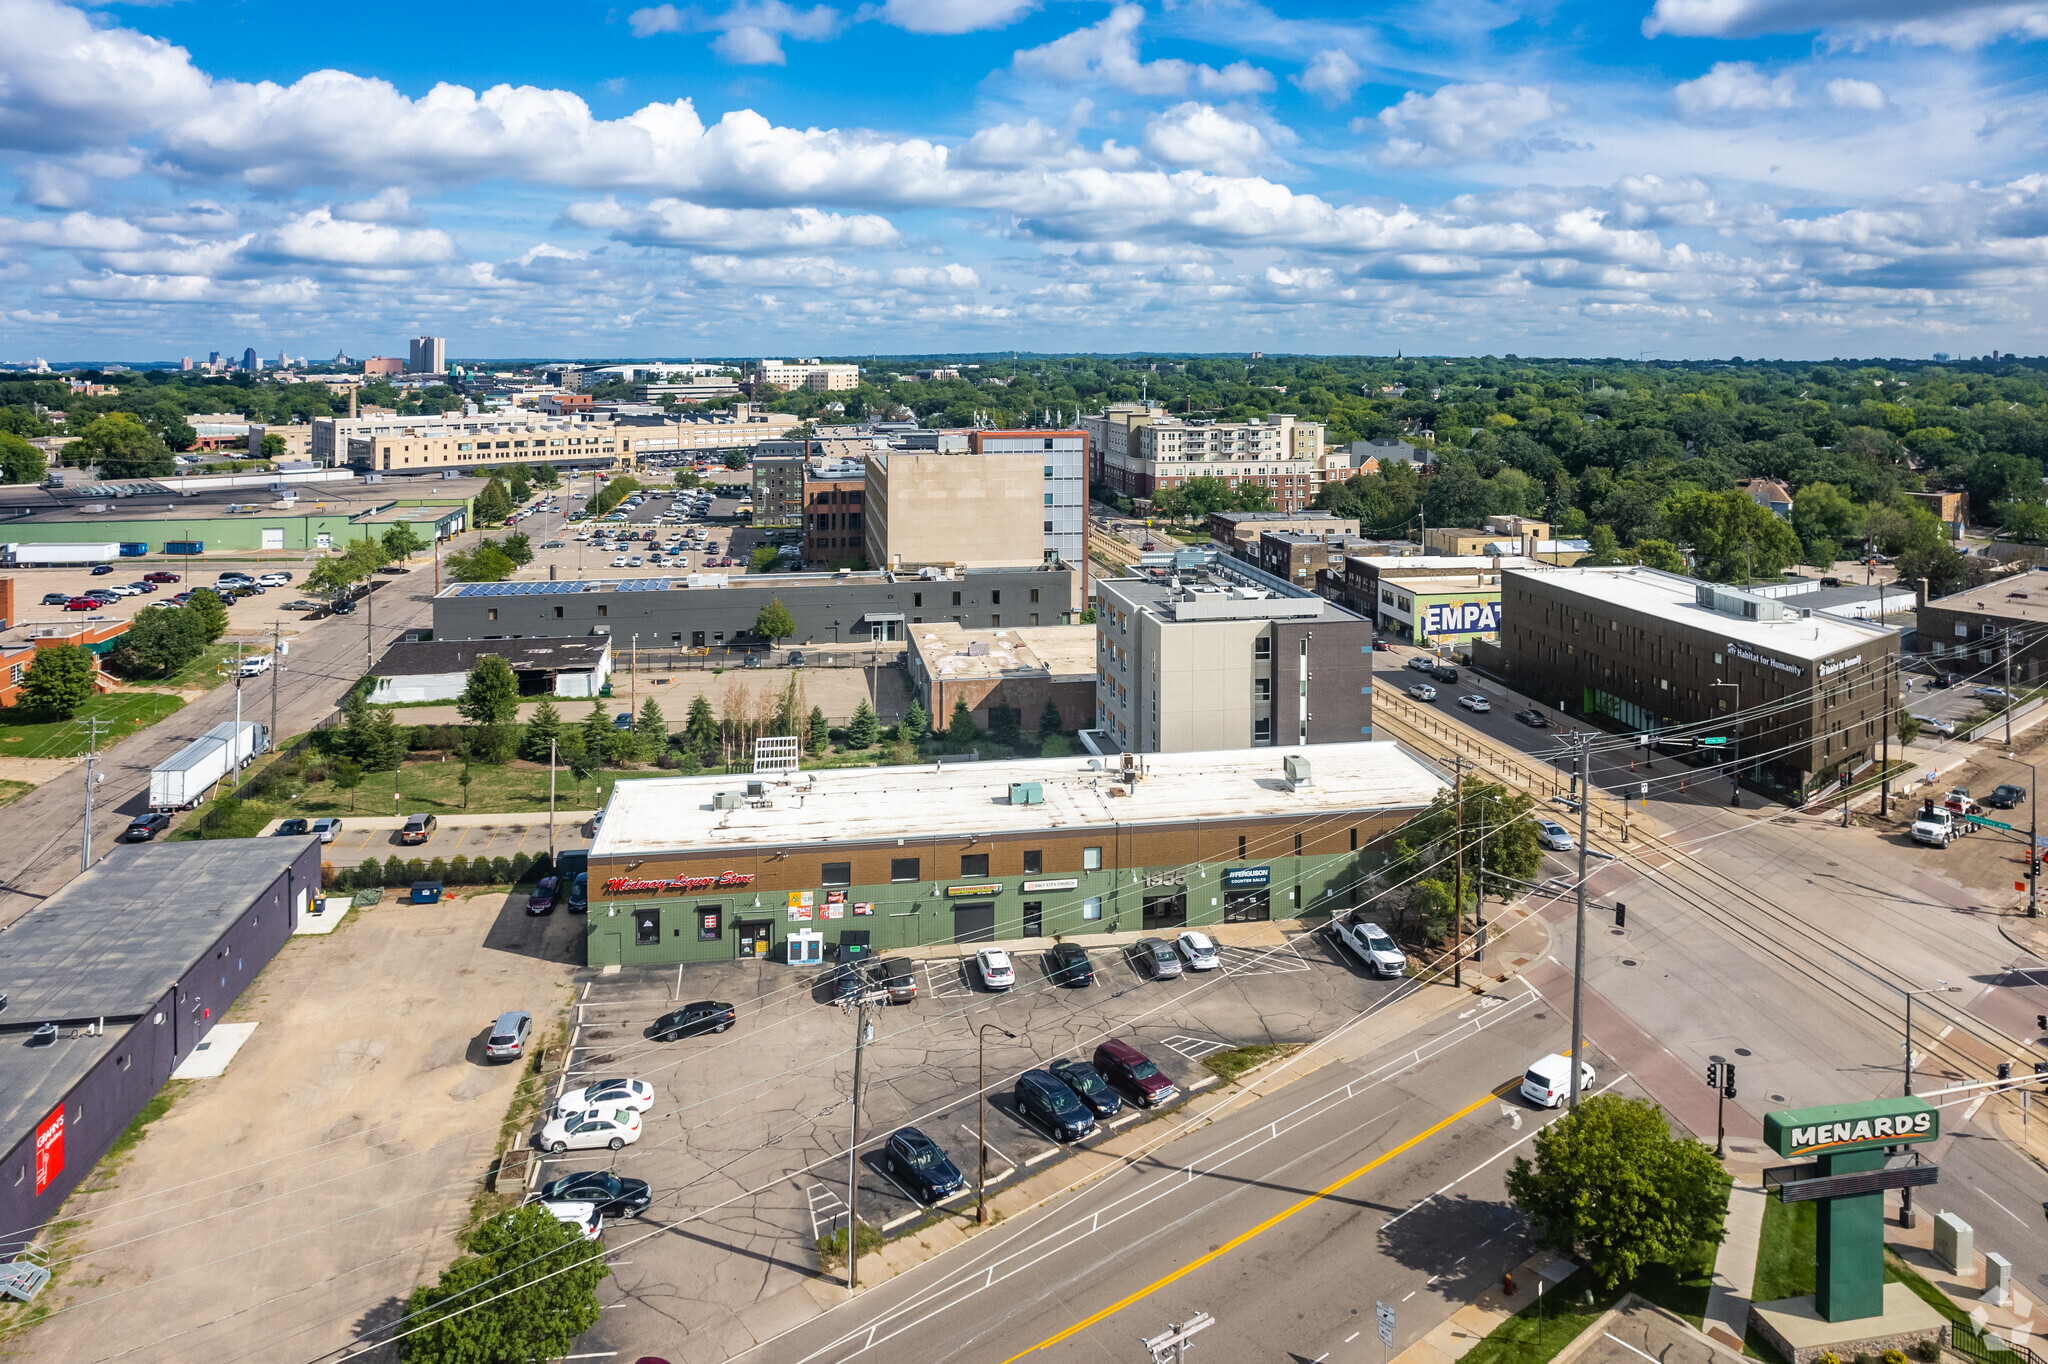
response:
[[[1716,721],[1747,778],[1812,793],[1878,758],[1898,633],[1647,567],[1509,567],[1497,649],[1509,686],[1622,729]]]

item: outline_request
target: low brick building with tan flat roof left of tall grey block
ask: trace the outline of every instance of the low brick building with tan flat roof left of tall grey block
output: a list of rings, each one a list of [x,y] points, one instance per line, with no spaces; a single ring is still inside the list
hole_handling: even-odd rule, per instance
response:
[[[1022,625],[967,631],[950,621],[909,633],[909,684],[932,729],[952,723],[956,700],[983,729],[995,707],[1018,713],[1024,733],[1038,727],[1044,702],[1059,707],[1061,729],[1096,719],[1096,627]]]

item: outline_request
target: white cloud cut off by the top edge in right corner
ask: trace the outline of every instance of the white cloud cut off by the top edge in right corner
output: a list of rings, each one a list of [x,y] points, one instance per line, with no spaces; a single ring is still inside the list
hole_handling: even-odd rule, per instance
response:
[[[2048,6],[2009,0],[1657,0],[1645,37],[1757,37],[1835,31],[1860,39],[1980,47],[1997,37],[2048,37]]]

